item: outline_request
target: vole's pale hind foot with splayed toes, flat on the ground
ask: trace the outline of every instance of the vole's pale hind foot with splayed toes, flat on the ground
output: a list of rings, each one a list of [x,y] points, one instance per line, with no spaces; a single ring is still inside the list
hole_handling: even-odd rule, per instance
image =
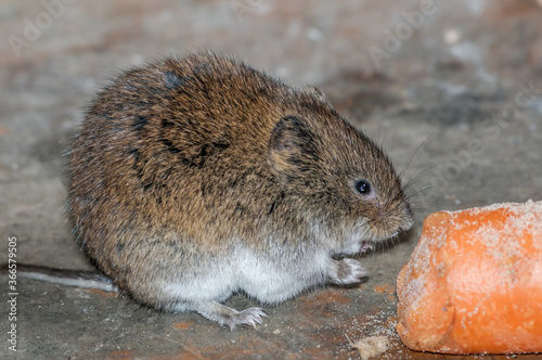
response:
[[[196,311],[206,319],[230,326],[232,331],[236,325],[250,325],[256,329],[256,324],[260,324],[261,319],[267,318],[260,308],[237,311],[212,300],[201,303]]]

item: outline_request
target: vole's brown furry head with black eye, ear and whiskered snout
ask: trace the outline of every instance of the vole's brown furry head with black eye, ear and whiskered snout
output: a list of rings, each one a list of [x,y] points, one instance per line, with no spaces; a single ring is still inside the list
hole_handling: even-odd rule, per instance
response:
[[[313,231],[352,254],[410,229],[411,207],[383,151],[321,92],[299,98],[271,132],[268,162]]]

